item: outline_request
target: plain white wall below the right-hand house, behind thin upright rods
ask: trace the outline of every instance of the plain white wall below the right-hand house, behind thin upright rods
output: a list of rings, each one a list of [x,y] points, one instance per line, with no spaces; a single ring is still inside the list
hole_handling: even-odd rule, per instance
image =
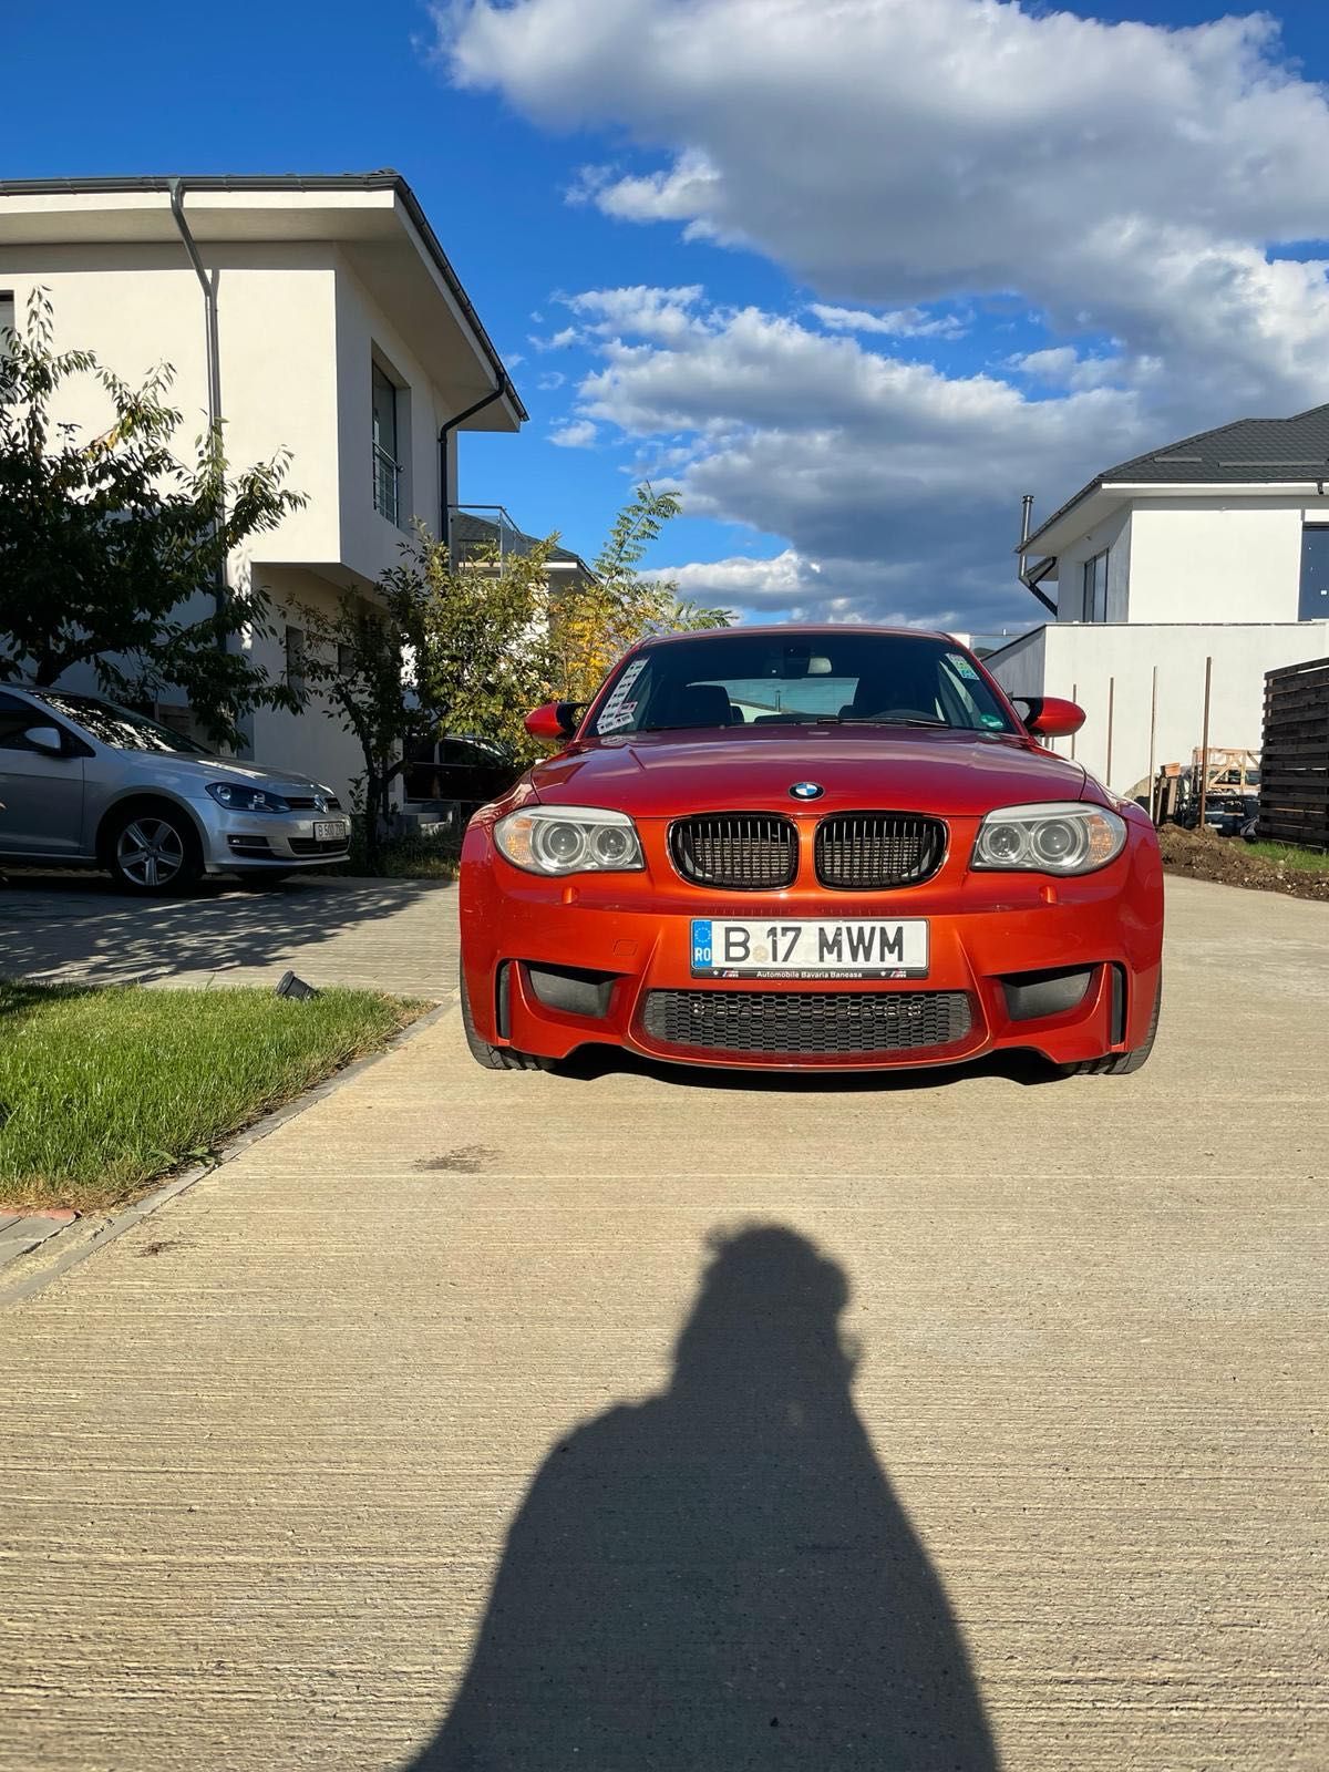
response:
[[[1035,682],[1038,634],[1042,680]],[[1155,762],[1189,764],[1203,735],[1207,657],[1214,661],[1210,744],[1258,750],[1265,672],[1329,657],[1329,622],[1049,624],[994,654],[987,668],[1010,695],[1065,695],[1079,702],[1088,716],[1084,727],[1054,750],[1076,757],[1118,794],[1129,794],[1148,774],[1154,668],[1159,673]]]

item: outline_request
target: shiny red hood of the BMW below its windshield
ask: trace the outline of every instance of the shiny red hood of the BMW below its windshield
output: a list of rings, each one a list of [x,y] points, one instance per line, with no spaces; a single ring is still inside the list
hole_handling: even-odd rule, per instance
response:
[[[1014,735],[829,725],[595,739],[530,776],[548,804],[611,806],[643,819],[792,812],[801,804],[789,792],[796,781],[824,789],[803,803],[810,812],[978,817],[1021,801],[1081,799],[1086,780],[1079,764]]]

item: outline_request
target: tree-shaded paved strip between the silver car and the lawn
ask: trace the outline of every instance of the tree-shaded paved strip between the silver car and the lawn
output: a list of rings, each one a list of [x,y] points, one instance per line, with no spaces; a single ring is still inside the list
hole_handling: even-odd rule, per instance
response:
[[[450,881],[330,879],[271,891],[209,882],[190,898],[131,898],[99,875],[12,874],[0,884],[0,978],[76,983],[310,983],[443,999],[457,982]]]

